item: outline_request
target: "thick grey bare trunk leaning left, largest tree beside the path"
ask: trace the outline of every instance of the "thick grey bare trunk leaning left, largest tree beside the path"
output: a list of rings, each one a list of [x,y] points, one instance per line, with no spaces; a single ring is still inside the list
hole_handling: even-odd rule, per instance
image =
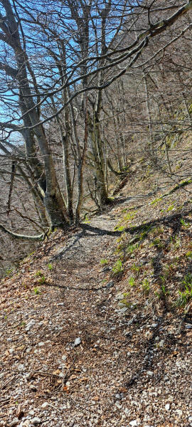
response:
[[[16,22],[14,12],[11,8],[9,0],[4,2],[6,9],[7,21],[9,27],[5,28],[7,43],[14,49],[16,65],[18,73],[16,75],[19,90],[19,104],[23,116],[23,124],[26,131],[23,134],[26,142],[26,154],[31,160],[31,166],[36,169],[36,175],[39,175],[39,162],[37,164],[35,139],[39,145],[41,155],[43,156],[44,171],[41,169],[41,176],[39,176],[38,184],[41,185],[43,194],[43,203],[50,218],[50,225],[52,228],[57,226],[65,226],[68,223],[68,214],[65,208],[63,196],[60,192],[60,187],[55,174],[55,167],[53,159],[50,154],[46,134],[43,125],[39,124],[39,112],[31,97],[31,88],[28,82],[28,75],[26,70],[27,57],[21,46],[21,40],[18,32],[18,23]],[[7,33],[9,28],[9,34]],[[35,125],[33,132],[30,127]],[[34,161],[35,159],[35,161]]]

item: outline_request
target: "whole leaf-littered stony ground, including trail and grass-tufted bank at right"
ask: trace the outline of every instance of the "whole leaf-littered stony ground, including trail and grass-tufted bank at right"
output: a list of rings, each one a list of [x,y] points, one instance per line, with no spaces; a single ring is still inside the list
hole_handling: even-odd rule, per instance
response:
[[[192,426],[191,187],[127,184],[2,280],[0,426]]]

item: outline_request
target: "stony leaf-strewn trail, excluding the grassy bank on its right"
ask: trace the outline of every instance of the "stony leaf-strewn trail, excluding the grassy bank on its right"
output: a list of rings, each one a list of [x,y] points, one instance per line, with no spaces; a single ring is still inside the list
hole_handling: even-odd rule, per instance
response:
[[[1,284],[0,426],[192,426],[191,338],[149,301],[119,310],[125,284],[100,264],[117,222],[114,206],[58,233]]]

